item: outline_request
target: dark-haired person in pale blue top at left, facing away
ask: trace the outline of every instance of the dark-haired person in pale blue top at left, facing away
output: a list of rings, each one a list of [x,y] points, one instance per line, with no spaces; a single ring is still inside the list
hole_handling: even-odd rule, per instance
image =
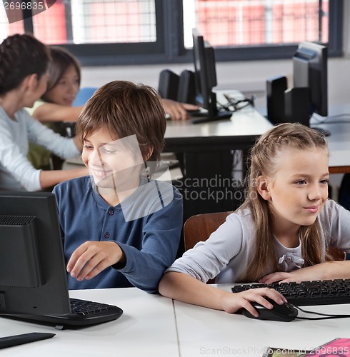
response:
[[[46,91],[49,49],[29,35],[9,36],[0,45],[0,190],[38,191],[86,174],[86,169],[41,171],[26,158],[29,141],[62,159],[81,145],[34,120],[24,110]]]

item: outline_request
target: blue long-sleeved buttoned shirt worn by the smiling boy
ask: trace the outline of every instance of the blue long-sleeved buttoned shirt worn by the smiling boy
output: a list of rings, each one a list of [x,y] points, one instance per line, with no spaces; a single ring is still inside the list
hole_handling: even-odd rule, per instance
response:
[[[136,286],[149,293],[158,292],[161,276],[176,258],[182,228],[182,197],[169,183],[161,185],[170,187],[170,191],[163,191],[163,197],[159,196],[162,203],[168,204],[158,211],[151,208],[151,213],[139,214],[141,218],[130,221],[124,216],[126,206],[139,211],[141,206],[152,207],[156,203],[154,195],[149,194],[150,186],[140,186],[146,189],[141,195],[133,193],[126,198],[123,209],[121,204],[109,206],[91,186],[89,176],[54,188],[66,262],[85,241],[115,241],[126,256],[123,268],[108,267],[91,280],[79,282],[68,274],[69,289]],[[171,197],[166,197],[169,194]]]

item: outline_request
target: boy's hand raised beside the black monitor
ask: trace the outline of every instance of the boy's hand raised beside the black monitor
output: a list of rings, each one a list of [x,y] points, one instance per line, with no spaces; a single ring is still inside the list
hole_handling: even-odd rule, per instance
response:
[[[115,242],[87,241],[71,255],[67,271],[78,281],[89,280],[124,259],[124,252]]]

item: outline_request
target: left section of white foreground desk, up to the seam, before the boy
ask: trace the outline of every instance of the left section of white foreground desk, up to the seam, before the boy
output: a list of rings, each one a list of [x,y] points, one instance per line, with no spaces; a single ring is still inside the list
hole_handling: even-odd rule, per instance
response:
[[[1,357],[178,357],[174,306],[169,298],[137,288],[71,291],[71,297],[111,303],[124,310],[116,321],[79,330],[0,318],[0,336],[30,332],[54,338],[0,350]]]

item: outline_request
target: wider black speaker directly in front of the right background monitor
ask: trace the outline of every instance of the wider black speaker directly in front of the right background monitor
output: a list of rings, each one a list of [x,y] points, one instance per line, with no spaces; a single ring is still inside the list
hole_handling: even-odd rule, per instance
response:
[[[307,87],[291,88],[284,92],[286,121],[310,124],[310,91]]]

